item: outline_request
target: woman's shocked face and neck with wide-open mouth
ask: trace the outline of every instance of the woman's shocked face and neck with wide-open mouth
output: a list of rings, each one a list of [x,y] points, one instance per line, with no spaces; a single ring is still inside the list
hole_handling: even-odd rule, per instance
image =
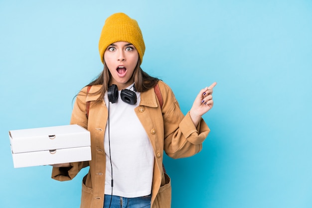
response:
[[[104,52],[104,61],[112,79],[111,83],[117,85],[119,90],[130,86],[131,79],[139,60],[139,53],[134,45],[128,42],[116,42],[109,45]]]

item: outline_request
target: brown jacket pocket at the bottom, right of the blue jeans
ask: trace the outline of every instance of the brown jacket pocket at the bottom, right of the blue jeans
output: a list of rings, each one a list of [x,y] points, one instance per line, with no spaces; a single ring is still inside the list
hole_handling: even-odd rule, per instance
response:
[[[171,208],[171,180],[164,173],[165,184],[159,188],[153,208]]]

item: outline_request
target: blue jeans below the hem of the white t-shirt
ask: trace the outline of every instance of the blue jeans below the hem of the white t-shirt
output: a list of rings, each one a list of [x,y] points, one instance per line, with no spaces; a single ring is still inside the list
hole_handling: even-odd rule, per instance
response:
[[[112,203],[111,203],[112,199]],[[125,198],[118,196],[105,195],[104,208],[151,208],[152,195],[137,198]]]

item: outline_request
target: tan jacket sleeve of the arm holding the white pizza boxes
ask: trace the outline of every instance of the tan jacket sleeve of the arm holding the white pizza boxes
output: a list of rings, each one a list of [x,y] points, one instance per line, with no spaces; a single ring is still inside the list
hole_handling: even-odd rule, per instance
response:
[[[88,128],[88,119],[86,116],[86,88],[83,88],[77,95],[70,124],[78,124],[85,129]],[[88,161],[70,163],[71,167],[68,168],[54,168],[52,169],[52,179],[58,181],[72,180],[82,168],[89,166]]]

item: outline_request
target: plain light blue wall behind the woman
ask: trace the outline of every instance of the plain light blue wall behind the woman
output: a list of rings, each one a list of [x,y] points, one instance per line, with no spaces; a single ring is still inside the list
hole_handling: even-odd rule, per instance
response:
[[[311,0],[0,0],[0,207],[79,207],[87,170],[61,183],[14,169],[8,131],[69,123],[115,12],[138,20],[142,68],[184,113],[218,82],[203,150],[164,159],[172,208],[312,207]]]

